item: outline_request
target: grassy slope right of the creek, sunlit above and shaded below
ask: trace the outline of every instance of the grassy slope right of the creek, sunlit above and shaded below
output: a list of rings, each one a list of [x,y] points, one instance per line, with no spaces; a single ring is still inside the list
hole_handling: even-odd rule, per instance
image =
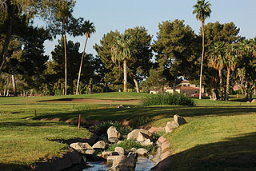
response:
[[[188,124],[166,135],[170,161],[176,163],[170,170],[256,169],[256,113],[186,120]]]

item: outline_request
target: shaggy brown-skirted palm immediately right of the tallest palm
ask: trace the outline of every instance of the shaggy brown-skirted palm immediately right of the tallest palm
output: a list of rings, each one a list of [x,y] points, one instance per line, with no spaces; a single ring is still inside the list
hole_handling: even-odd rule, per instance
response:
[[[210,58],[208,60],[208,66],[218,70],[219,86],[221,97],[223,96],[222,87],[222,70],[224,68],[225,55],[224,55],[225,42],[215,42],[210,49]]]

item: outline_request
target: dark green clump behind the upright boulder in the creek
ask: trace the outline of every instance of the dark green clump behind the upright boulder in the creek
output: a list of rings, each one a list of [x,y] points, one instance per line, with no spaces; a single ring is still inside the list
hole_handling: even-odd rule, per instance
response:
[[[97,133],[106,133],[110,126],[117,128],[123,137],[126,137],[126,135],[132,131],[130,126],[124,126],[119,121],[104,121],[98,125],[95,125],[94,129],[97,131]]]

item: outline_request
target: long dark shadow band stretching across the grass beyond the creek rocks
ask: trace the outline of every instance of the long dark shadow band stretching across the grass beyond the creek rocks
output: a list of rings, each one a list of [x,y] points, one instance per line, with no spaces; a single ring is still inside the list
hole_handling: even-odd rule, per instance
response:
[[[200,116],[226,116],[226,115],[244,115],[256,113],[256,106],[155,106],[155,107],[138,107],[138,108],[110,108],[110,109],[86,109],[74,112],[63,113],[45,113],[34,117],[34,120],[52,120],[59,118],[60,121],[78,120],[79,114],[82,119],[100,120],[100,121],[118,121],[130,120],[134,117],[173,117],[175,114],[183,117],[200,117]]]

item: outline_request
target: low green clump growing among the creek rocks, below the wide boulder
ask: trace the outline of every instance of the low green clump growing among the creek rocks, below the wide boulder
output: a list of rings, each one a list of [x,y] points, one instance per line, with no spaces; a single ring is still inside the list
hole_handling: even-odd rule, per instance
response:
[[[117,144],[111,145],[109,147],[108,151],[114,151],[114,148],[116,148],[116,147],[122,147],[126,151],[129,151],[132,148],[135,148],[135,149],[144,148],[150,152],[153,149],[153,145],[143,146],[143,145],[141,145],[141,143],[139,143],[138,141],[135,141],[135,140],[124,140],[121,143],[119,143],[118,145]]]

